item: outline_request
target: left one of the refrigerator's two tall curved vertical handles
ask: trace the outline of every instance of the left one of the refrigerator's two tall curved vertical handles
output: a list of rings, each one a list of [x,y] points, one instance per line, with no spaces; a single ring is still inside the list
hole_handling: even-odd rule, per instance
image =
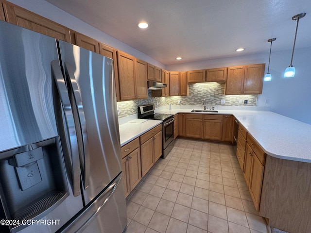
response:
[[[51,68],[52,68],[52,76],[54,77],[56,87],[58,90],[58,94],[62,103],[63,112],[65,114],[65,120],[66,121],[66,128],[63,129],[63,132],[65,134],[69,134],[69,147],[67,148],[67,153],[71,157],[71,163],[72,163],[72,186],[73,186],[73,195],[79,196],[80,195],[80,161],[79,161],[79,151],[78,151],[78,145],[77,145],[77,134],[76,129],[74,125],[74,119],[72,114],[72,109],[70,105],[70,100],[68,96],[68,91],[66,88],[65,80],[62,74],[62,71],[60,69],[59,61],[54,60],[51,62]],[[64,126],[64,124],[63,124]]]

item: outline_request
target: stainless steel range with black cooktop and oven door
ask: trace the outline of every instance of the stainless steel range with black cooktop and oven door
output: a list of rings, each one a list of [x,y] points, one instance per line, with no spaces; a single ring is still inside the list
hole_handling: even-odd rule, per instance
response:
[[[138,118],[162,120],[162,158],[165,158],[174,146],[174,115],[155,113],[155,105],[138,106]]]

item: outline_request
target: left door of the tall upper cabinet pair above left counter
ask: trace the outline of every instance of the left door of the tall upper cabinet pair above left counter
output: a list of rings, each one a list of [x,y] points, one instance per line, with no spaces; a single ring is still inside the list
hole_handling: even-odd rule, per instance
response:
[[[117,51],[120,84],[120,99],[136,99],[135,90],[135,57],[122,51]]]

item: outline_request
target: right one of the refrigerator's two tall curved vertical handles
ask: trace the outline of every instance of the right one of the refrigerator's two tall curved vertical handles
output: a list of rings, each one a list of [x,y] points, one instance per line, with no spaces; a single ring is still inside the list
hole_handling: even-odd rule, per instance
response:
[[[83,104],[82,104],[82,98],[79,90],[78,83],[76,81],[76,78],[74,76],[74,71],[71,65],[68,62],[65,62],[65,73],[66,76],[68,75],[69,83],[72,88],[72,96],[73,101],[75,102],[75,108],[78,117],[74,117],[76,125],[80,125],[80,132],[77,133],[78,135],[78,145],[83,146],[83,183],[84,188],[86,189],[89,185],[89,173],[90,173],[90,162],[89,162],[89,150],[88,150],[88,144],[87,144],[87,132],[86,132],[86,118],[84,116],[84,110],[83,110]],[[75,111],[73,111],[75,114]]]

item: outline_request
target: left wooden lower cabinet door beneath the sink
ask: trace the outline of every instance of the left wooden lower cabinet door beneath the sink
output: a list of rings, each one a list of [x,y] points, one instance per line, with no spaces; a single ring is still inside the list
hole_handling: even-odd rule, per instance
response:
[[[203,137],[203,114],[185,114],[185,136]]]

